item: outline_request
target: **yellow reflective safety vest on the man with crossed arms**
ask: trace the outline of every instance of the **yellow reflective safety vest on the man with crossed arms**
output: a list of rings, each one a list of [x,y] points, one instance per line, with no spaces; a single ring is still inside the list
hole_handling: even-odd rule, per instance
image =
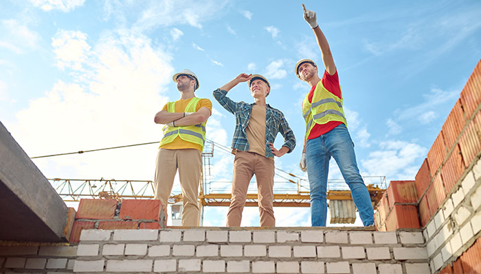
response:
[[[183,112],[196,112],[197,103],[201,99],[199,97],[193,97],[186,105],[186,109]],[[175,102],[167,103],[167,111],[175,112]],[[160,141],[160,146],[166,145],[172,142],[177,136],[186,142],[193,142],[201,146],[201,151],[205,142],[205,122],[199,125],[188,125],[185,127],[168,127],[164,126],[164,137]]]

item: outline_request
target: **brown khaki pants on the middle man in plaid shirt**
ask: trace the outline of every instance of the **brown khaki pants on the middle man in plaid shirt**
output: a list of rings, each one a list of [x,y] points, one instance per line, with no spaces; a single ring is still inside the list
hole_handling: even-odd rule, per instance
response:
[[[258,153],[237,151],[234,158],[234,178],[232,198],[227,213],[227,227],[238,227],[247,198],[247,188],[253,175],[256,175],[257,195],[260,213],[260,226],[275,226],[276,219],[272,208],[274,186],[274,160]]]

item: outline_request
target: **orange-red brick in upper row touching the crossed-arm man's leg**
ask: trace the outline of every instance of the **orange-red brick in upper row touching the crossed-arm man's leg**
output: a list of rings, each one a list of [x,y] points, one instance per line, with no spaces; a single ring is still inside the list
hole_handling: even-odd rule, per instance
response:
[[[120,204],[120,219],[122,220],[153,220],[159,221],[159,200],[126,199]]]

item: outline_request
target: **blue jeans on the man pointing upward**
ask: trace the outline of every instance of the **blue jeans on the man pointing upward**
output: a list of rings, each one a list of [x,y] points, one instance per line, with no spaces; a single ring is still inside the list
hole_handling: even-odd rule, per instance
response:
[[[327,175],[331,156],[350,188],[363,225],[374,225],[374,210],[368,188],[357,169],[354,144],[346,125],[341,124],[326,134],[307,140],[306,166],[311,187],[311,222],[313,227],[326,226]]]

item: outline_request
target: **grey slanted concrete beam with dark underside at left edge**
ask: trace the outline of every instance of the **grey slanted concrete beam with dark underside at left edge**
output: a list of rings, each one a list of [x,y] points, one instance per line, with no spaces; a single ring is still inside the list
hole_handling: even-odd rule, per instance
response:
[[[0,122],[0,240],[62,242],[67,206]]]

